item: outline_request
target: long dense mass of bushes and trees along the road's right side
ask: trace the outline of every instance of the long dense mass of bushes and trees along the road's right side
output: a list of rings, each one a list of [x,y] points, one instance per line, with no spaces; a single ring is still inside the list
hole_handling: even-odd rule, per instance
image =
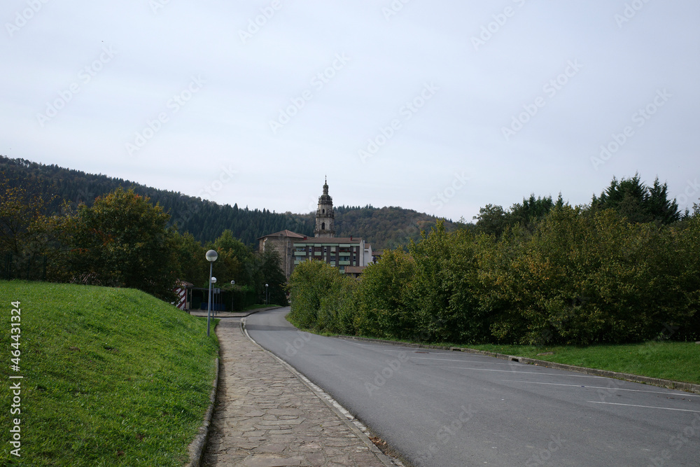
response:
[[[413,342],[558,345],[700,340],[700,209],[658,181],[613,180],[590,205],[531,197],[437,223],[360,281],[320,262],[290,278],[297,326]]]

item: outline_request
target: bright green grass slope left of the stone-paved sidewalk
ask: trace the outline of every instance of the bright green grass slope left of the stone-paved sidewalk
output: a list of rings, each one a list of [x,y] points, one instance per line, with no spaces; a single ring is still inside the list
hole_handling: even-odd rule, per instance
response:
[[[11,302],[21,307],[20,372],[10,370]],[[0,465],[182,466],[209,406],[216,335],[133,289],[0,281],[0,399],[22,375],[21,458]],[[17,381],[16,379],[14,381]]]

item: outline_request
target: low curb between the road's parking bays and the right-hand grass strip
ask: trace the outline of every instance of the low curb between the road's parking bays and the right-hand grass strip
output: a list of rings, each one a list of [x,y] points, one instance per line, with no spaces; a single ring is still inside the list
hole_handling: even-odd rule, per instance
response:
[[[585,375],[591,375],[591,376],[601,376],[601,377],[607,377],[607,378],[624,379],[625,381],[629,381],[629,382],[650,384],[652,386],[660,386],[660,387],[665,387],[667,389],[677,389],[678,391],[686,391],[686,392],[700,394],[700,384],[692,384],[692,383],[685,383],[685,382],[680,382],[680,381],[671,381],[670,379],[660,379],[660,378],[652,378],[652,377],[647,377],[647,376],[632,375],[631,373],[620,373],[620,372],[610,371],[610,370],[597,370],[596,368],[585,368],[582,366],[575,366],[575,365],[565,365],[563,363],[554,363],[554,362],[546,361],[546,360],[538,360],[536,358],[528,358],[528,357],[506,355],[506,354],[497,354],[494,352],[487,352],[485,350],[467,349],[467,348],[463,348],[463,347],[444,347],[444,346],[440,346],[440,345],[423,345],[423,344],[410,344],[410,343],[406,344],[404,342],[395,342],[395,341],[391,341],[391,340],[370,339],[368,337],[353,337],[353,336],[345,336],[345,335],[338,335],[335,337],[339,337],[340,339],[345,339],[345,340],[360,340],[360,341],[365,341],[365,342],[379,342],[381,344],[400,345],[402,347],[416,347],[416,348],[420,348],[420,349],[463,351],[463,352],[468,352],[470,354],[486,355],[486,356],[500,358],[502,360],[507,360],[507,361],[517,361],[519,363],[527,363],[528,365],[543,366],[545,368],[554,368],[556,370],[575,371],[578,373],[584,373]]]

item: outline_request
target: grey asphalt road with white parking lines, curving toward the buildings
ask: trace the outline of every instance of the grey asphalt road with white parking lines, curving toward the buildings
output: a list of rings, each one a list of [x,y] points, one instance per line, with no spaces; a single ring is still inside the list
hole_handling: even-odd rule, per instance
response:
[[[700,466],[700,395],[302,333],[288,311],[248,333],[415,466]]]

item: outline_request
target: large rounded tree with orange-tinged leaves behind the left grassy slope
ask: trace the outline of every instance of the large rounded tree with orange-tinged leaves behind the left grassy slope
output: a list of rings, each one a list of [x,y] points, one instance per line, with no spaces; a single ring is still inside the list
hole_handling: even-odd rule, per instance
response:
[[[169,216],[148,197],[122,188],[78,207],[66,221],[74,280],[138,288],[172,300],[179,277],[178,243]]]

